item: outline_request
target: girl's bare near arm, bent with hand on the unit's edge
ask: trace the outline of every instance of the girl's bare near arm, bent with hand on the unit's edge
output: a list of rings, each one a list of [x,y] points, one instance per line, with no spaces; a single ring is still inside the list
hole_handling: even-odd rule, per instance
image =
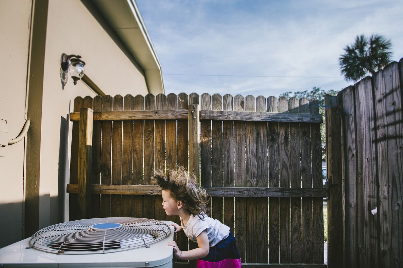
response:
[[[192,250],[181,251],[175,241],[169,242],[174,249],[174,255],[181,260],[195,260],[206,257],[210,251],[210,243],[208,242],[208,236],[206,230],[202,231],[197,237],[198,247]]]

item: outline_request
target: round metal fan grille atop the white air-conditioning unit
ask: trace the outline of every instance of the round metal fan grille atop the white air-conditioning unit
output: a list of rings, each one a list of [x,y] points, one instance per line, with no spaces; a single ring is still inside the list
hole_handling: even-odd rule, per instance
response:
[[[93,230],[99,223],[120,223],[112,230]],[[141,218],[99,218],[59,223],[37,231],[30,245],[55,254],[98,254],[149,247],[171,233],[163,222]]]

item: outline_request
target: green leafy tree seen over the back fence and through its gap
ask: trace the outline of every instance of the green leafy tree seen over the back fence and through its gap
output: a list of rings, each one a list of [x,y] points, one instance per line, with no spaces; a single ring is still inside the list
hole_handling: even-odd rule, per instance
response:
[[[318,105],[319,105],[319,113],[322,114],[323,118],[323,123],[320,125],[320,139],[322,142],[322,161],[326,161],[326,132],[325,132],[325,96],[330,95],[330,96],[336,96],[339,91],[335,91],[333,89],[330,89],[328,91],[324,91],[323,89],[320,89],[320,87],[313,87],[311,91],[297,91],[294,93],[294,96],[291,96],[291,91],[287,91],[284,93],[281,93],[278,97],[285,97],[289,99],[290,97],[296,97],[298,99],[301,98],[307,98],[308,100],[311,99],[316,99],[318,100]]]

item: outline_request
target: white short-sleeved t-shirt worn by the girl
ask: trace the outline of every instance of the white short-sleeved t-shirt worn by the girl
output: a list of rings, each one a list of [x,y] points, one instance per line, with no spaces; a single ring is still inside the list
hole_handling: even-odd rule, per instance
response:
[[[181,218],[181,225],[185,235],[193,242],[197,242],[196,237],[206,230],[210,247],[215,246],[218,242],[226,239],[229,235],[229,227],[220,223],[220,221],[210,218],[205,215],[204,219],[198,216],[190,215],[189,221],[183,226]]]

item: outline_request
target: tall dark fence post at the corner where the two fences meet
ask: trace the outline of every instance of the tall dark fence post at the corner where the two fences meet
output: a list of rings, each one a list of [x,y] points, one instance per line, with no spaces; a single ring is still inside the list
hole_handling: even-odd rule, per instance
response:
[[[326,166],[328,199],[328,267],[343,267],[343,194],[341,178],[341,109],[337,97],[326,96]]]

